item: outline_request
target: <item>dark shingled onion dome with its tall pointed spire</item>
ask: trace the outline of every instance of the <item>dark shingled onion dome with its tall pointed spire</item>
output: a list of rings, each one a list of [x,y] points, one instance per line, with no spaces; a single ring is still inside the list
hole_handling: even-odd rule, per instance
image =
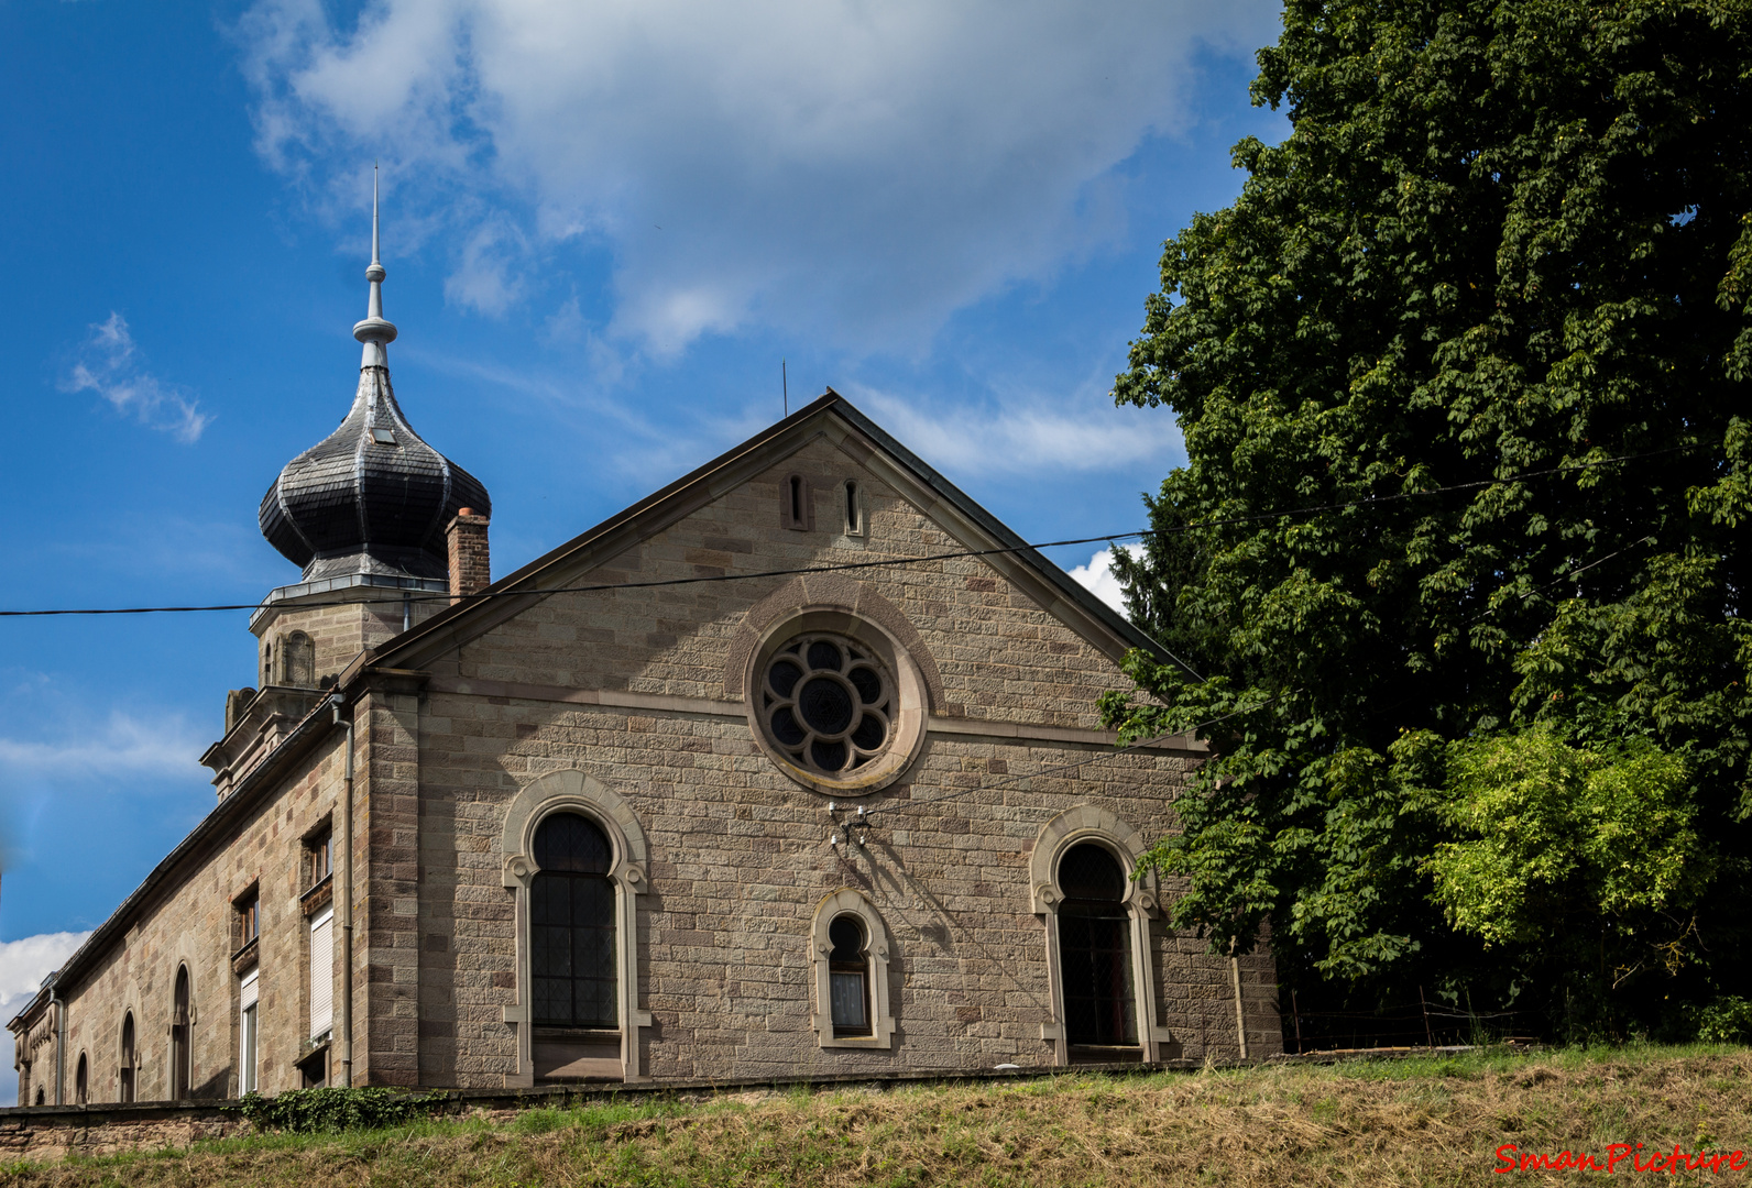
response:
[[[301,587],[277,590],[282,598],[361,585],[447,589],[445,526],[463,508],[491,515],[480,480],[427,445],[396,405],[384,275],[373,170],[371,296],[352,328],[364,343],[357,394],[340,428],[287,463],[261,499],[261,534],[303,569]]]

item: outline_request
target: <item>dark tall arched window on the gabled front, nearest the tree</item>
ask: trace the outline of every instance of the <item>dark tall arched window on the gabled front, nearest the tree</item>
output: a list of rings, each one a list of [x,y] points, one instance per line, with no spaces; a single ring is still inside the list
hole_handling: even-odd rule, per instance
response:
[[[1084,841],[1058,860],[1058,960],[1065,1039],[1079,1048],[1137,1043],[1132,1006],[1132,915],[1125,871],[1106,846]]]

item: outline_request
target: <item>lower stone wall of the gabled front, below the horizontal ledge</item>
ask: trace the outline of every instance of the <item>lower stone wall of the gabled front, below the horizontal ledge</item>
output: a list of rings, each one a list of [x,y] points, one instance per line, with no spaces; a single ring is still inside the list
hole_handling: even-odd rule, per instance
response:
[[[517,1001],[517,936],[499,831],[538,774],[596,776],[650,841],[638,937],[641,1006],[655,1016],[648,1071],[748,1078],[1049,1062],[1046,932],[1028,902],[1035,836],[1077,804],[1158,836],[1195,762],[936,736],[908,783],[862,801],[876,820],[846,860],[827,846],[827,797],[778,776],[741,722],[433,696],[422,727],[420,1072],[464,1086],[517,1072],[501,1022]],[[974,790],[1077,759],[1090,762],[1027,790]],[[841,887],[869,895],[890,934],[892,1051],[820,1050],[809,1030],[809,925]],[[1237,1057],[1230,962],[1160,920],[1151,936],[1162,1022],[1179,1044],[1167,1055]],[[1242,979],[1249,1055],[1275,1051],[1270,958],[1242,958]]]

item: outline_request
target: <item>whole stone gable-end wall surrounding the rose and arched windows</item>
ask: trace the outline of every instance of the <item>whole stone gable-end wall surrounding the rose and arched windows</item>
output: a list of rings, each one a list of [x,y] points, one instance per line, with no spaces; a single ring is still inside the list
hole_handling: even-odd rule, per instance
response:
[[[781,526],[781,482],[795,470],[815,489],[813,533]],[[844,478],[862,487],[867,538],[839,531]],[[876,473],[816,440],[585,580],[650,582],[958,547]],[[909,773],[858,801],[876,824],[869,850],[851,860],[827,846],[832,797],[787,780],[755,745],[741,699],[725,692],[732,638],[748,608],[785,578],[552,596],[429,666],[440,680],[417,724],[417,974],[406,972],[405,946],[394,957],[396,985],[417,985],[424,1083],[491,1086],[519,1072],[515,1029],[503,1022],[517,1002],[517,936],[499,834],[517,790],[557,769],[583,771],[622,796],[652,846],[652,890],[638,897],[638,953],[639,1006],[655,1018],[641,1037],[653,1076],[1049,1060],[1041,1039],[1051,1018],[1046,929],[1028,901],[1035,836],[1079,804],[1113,811],[1144,838],[1162,836],[1174,827],[1170,801],[1198,755],[1113,755],[1099,743],[1030,739],[1028,727],[1095,727],[1095,697],[1125,680],[1106,654],[985,561],[853,576],[916,629],[943,675],[943,704]],[[568,704],[461,692],[468,682],[715,704]],[[995,732],[969,732],[981,722]],[[1088,762],[1058,771],[1079,760]],[[999,787],[983,790],[988,785]],[[815,904],[839,887],[871,897],[894,943],[892,1051],[822,1050],[809,1030],[809,923]],[[1151,946],[1162,1022],[1177,1043],[1169,1055],[1239,1055],[1228,958],[1160,920]],[[1277,1050],[1268,953],[1242,958],[1239,972],[1251,1055]]]

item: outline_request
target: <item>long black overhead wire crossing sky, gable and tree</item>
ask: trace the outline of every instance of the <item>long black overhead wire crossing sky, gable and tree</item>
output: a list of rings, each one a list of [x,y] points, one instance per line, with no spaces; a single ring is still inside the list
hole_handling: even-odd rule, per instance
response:
[[[1300,508],[1277,508],[1272,512],[1254,512],[1251,515],[1230,515],[1216,517],[1209,520],[1191,520],[1188,524],[1176,524],[1172,527],[1141,527],[1128,533],[1107,533],[1104,536],[1079,536],[1074,540],[1048,540],[1039,543],[1023,545],[1004,545],[999,548],[958,548],[950,552],[925,554],[920,557],[888,557],[883,561],[846,561],[823,566],[801,566],[792,569],[760,569],[753,573],[706,573],[687,578],[653,578],[648,582],[599,582],[592,585],[559,585],[548,589],[531,589],[517,587],[506,590],[482,590],[478,594],[468,594],[459,598],[459,603],[480,603],[494,598],[540,598],[547,594],[596,594],[603,590],[648,590],[675,585],[701,585],[711,582],[752,582],[759,578],[783,578],[783,576],[802,576],[809,573],[844,573],[848,569],[878,569],[892,566],[913,566],[913,564],[930,564],[936,561],[955,561],[964,557],[995,557],[1004,554],[1035,552],[1041,548],[1060,548],[1069,545],[1111,545],[1121,540],[1135,540],[1141,536],[1174,536],[1179,533],[1191,533],[1207,527],[1232,527],[1237,524],[1258,524],[1263,520],[1279,520],[1286,515],[1316,515],[1319,512],[1344,512],[1353,508],[1379,506],[1388,503],[1402,503],[1405,499],[1423,499],[1438,494],[1451,494],[1454,491],[1477,491],[1480,487],[1493,487],[1498,484],[1524,482],[1528,478],[1551,478],[1554,475],[1566,475],[1582,470],[1598,470],[1601,466],[1615,466],[1619,463],[1635,463],[1645,457],[1661,457],[1663,454],[1677,454],[1684,450],[1703,449],[1703,445],[1675,445],[1664,450],[1649,450],[1645,454],[1622,454],[1617,457],[1603,457],[1593,463],[1575,463],[1568,466],[1549,466],[1545,470],[1533,470],[1521,475],[1512,475],[1507,478],[1479,478],[1475,482],[1449,484],[1444,487],[1428,487],[1424,491],[1400,491],[1396,494],[1370,496],[1367,499],[1347,499],[1340,503],[1316,503]],[[426,592],[399,592],[385,598],[364,598],[364,599],[312,599],[300,603],[300,608],[314,606],[373,606],[373,605],[399,605],[399,603],[431,603],[431,601],[450,601],[450,594]],[[82,606],[67,610],[0,610],[0,619],[40,619],[53,615],[186,615],[201,612],[226,612],[226,610],[258,610],[263,603],[215,603],[210,606]]]

